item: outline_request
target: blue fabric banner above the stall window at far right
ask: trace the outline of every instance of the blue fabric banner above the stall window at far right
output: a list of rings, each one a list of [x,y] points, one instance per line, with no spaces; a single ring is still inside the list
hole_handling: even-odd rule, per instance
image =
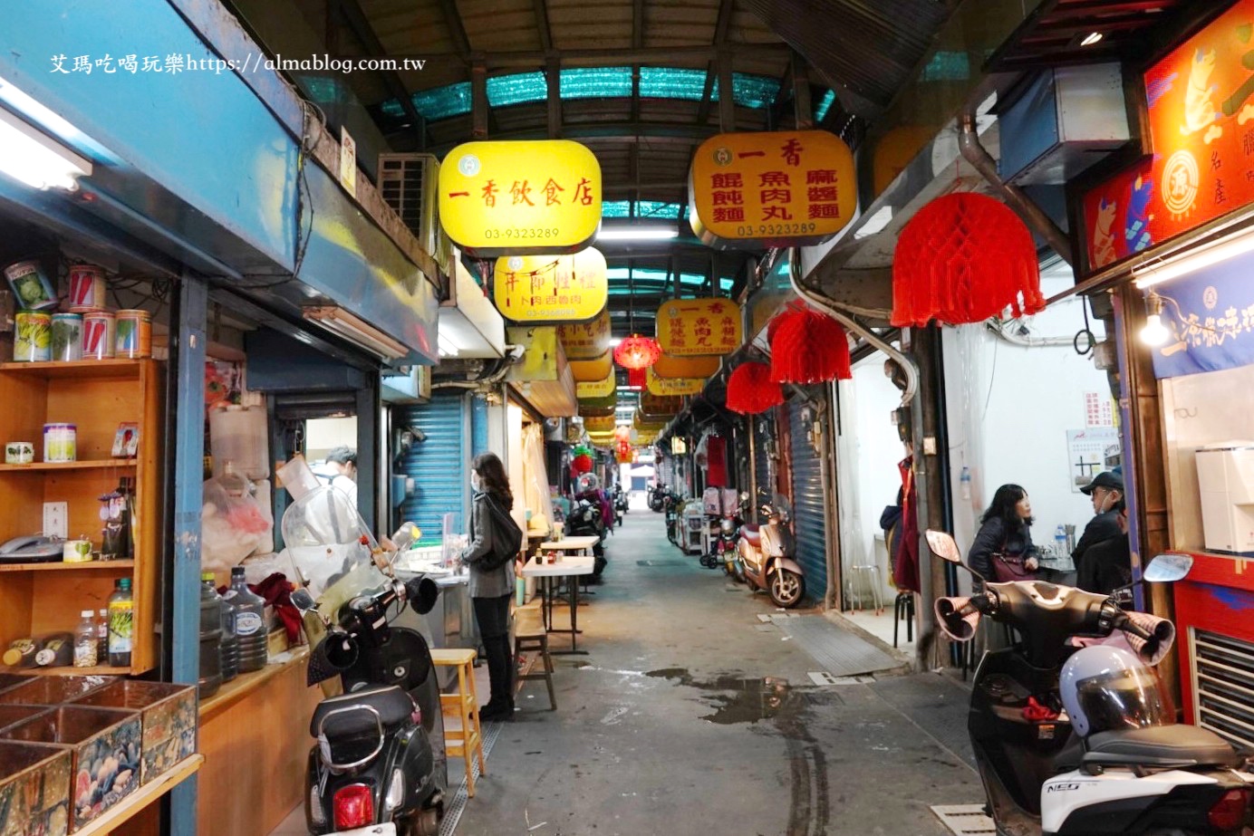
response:
[[[1254,254],[1156,285],[1171,337],[1152,348],[1155,377],[1254,363]]]

